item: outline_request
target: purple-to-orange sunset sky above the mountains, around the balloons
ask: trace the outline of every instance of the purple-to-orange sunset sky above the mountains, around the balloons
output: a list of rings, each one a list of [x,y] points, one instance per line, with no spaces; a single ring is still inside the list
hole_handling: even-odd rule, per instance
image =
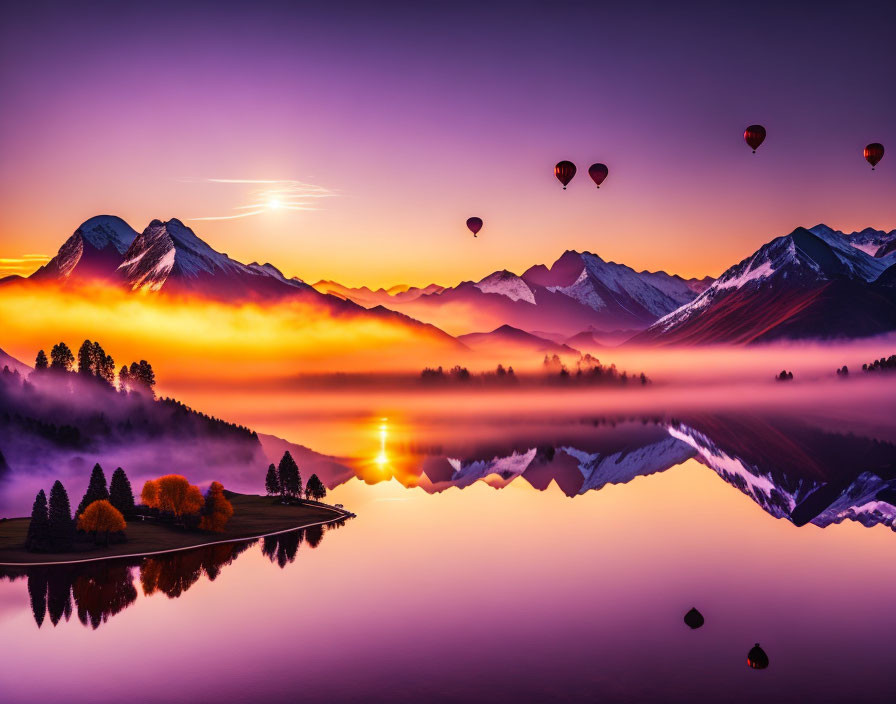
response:
[[[896,5],[801,5],[17,3],[0,275],[99,213],[372,287],[566,249],[717,276],[799,225],[896,228]]]

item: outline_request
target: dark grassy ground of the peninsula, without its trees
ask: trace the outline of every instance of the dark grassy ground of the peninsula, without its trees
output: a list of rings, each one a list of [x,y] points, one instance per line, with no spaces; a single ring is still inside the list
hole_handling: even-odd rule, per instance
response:
[[[274,499],[268,496],[229,494],[229,498],[234,513],[223,533],[185,531],[165,523],[134,520],[128,523],[127,542],[109,547],[85,545],[83,549],[62,553],[25,550],[30,519],[11,518],[0,522],[0,566],[84,562],[144,553],[174,552],[210,543],[250,540],[350,515],[316,504],[284,506],[274,503]]]

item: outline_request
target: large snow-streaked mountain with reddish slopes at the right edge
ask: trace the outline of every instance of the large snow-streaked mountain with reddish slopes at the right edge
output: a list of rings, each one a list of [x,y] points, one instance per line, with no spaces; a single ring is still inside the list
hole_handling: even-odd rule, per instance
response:
[[[751,343],[854,338],[896,330],[896,256],[871,256],[867,236],[850,240],[825,225],[799,227],[723,273],[694,301],[631,342]],[[891,233],[892,234],[892,233]],[[886,247],[890,235],[876,252]]]

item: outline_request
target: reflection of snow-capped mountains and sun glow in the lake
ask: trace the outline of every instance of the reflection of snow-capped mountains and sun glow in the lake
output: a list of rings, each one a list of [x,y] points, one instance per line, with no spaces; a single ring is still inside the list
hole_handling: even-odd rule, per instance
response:
[[[324,469],[329,488],[353,476],[371,484],[394,478],[428,493],[478,481],[497,489],[523,481],[539,491],[553,483],[573,497],[693,458],[775,518],[821,527],[848,519],[896,530],[896,444],[793,415],[533,423],[505,428],[495,441],[409,443],[391,451],[384,427],[374,462]]]

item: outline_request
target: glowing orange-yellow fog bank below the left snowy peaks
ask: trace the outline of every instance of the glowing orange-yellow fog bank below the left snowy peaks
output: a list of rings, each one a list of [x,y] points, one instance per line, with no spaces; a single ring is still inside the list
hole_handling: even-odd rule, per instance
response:
[[[27,310],[28,315],[21,312]],[[313,303],[224,304],[135,296],[109,288],[30,285],[0,291],[3,348],[24,360],[65,341],[98,340],[116,361],[148,359],[168,378],[256,380],[332,371],[448,364],[450,338]],[[14,343],[13,343],[14,341]]]

